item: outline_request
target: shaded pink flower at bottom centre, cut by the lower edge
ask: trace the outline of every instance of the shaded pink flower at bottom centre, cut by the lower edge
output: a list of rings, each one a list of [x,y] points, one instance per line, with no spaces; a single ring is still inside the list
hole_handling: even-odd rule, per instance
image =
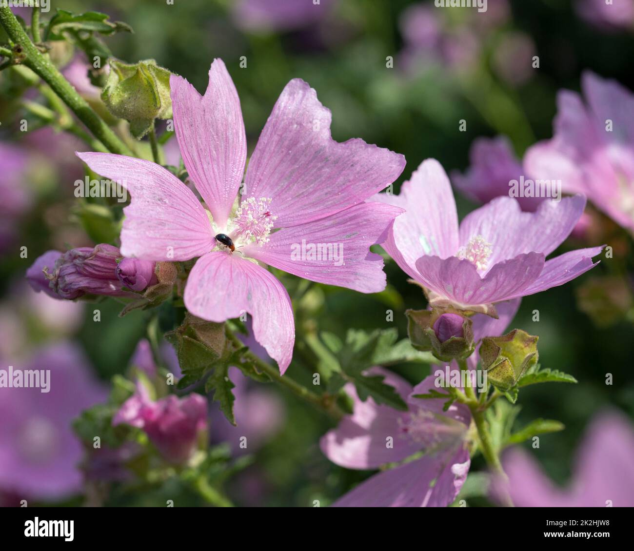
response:
[[[484,314],[473,316],[474,339],[500,335],[514,318],[520,299],[500,304],[498,319]],[[469,358],[470,367],[477,354]],[[458,369],[454,363],[453,369]],[[434,373],[435,368],[432,368]],[[370,373],[384,375],[408,405],[399,412],[372,398],[361,401],[354,386],[346,391],[354,400],[354,413],[344,417],[336,429],[321,438],[321,451],[333,463],[347,469],[378,469],[385,463],[403,462],[419,451],[422,457],[383,470],[342,496],[333,507],[446,507],[452,503],[467,479],[470,467],[467,431],[469,408],[453,404],[444,412],[445,399],[414,398],[436,386],[436,375],[411,385],[382,368]]]

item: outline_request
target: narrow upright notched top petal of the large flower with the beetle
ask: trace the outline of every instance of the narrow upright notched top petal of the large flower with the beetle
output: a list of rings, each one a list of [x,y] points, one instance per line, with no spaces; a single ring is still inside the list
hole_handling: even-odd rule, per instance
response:
[[[240,99],[222,60],[209,69],[204,96],[186,79],[169,79],[183,162],[214,223],[224,228],[244,176],[247,137]]]

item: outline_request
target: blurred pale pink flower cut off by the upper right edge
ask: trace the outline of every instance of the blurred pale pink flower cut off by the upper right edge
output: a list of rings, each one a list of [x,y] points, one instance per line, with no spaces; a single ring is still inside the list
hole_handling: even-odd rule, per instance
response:
[[[567,193],[584,193],[624,228],[634,231],[634,96],[618,82],[586,72],[586,98],[557,96],[555,136],[524,157],[537,178],[560,179]]]

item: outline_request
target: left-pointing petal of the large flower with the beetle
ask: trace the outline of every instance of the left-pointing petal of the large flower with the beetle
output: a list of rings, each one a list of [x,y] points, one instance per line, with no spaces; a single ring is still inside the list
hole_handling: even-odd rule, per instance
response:
[[[111,153],[76,153],[92,171],[131,195],[124,209],[121,254],[152,261],[190,260],[214,247],[209,217],[176,176],[156,163]]]

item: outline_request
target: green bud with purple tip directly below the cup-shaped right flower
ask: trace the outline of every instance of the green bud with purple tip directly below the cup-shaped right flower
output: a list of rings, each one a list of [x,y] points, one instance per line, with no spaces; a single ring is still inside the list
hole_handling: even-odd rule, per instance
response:
[[[412,346],[441,361],[463,360],[474,351],[473,322],[451,308],[408,310]]]

